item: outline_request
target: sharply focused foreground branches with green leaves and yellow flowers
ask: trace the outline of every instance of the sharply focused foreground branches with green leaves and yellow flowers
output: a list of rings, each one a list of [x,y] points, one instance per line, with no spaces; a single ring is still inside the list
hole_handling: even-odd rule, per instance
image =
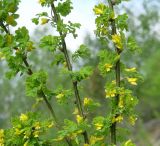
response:
[[[11,1],[12,2],[12,1]],[[75,70],[72,61],[85,59],[89,57],[91,52],[85,45],[81,45],[79,49],[70,57],[67,49],[65,38],[68,34],[77,37],[76,29],[80,28],[79,23],[68,21],[65,23],[63,17],[71,13],[72,2],[70,0],[52,1],[40,0],[42,7],[51,8],[51,16],[46,12],[37,14],[32,21],[36,25],[49,23],[58,33],[56,36],[43,36],[39,41],[39,47],[46,49],[53,54],[55,58],[52,65],[59,65],[63,73],[70,78],[72,89],[64,89],[55,87],[49,88],[48,72],[34,71],[28,63],[29,53],[34,53],[34,43],[29,37],[29,32],[26,27],[18,28],[15,33],[11,34],[8,27],[16,25],[18,15],[17,5],[19,1],[0,1],[1,7],[4,9],[4,18],[1,18],[0,36],[0,52],[1,59],[5,59],[8,63],[10,71],[6,73],[8,78],[15,77],[18,73],[25,75],[26,81],[26,96],[33,97],[37,101],[43,100],[52,116],[52,122],[49,120],[38,120],[34,112],[21,114],[19,118],[12,120],[12,128],[0,131],[1,145],[55,145],[61,141],[69,146],[84,145],[84,146],[103,146],[115,145],[120,143],[124,146],[134,146],[131,140],[124,139],[116,142],[116,123],[122,123],[125,119],[131,125],[135,124],[137,115],[135,106],[138,99],[132,94],[130,86],[137,85],[141,76],[138,74],[135,67],[128,68],[121,62],[121,54],[128,51],[137,51],[138,45],[132,38],[127,38],[125,31],[128,31],[127,14],[116,16],[114,6],[121,3],[116,1],[113,3],[108,0],[108,5],[100,3],[95,6],[93,11],[96,15],[96,36],[101,40],[108,40],[112,43],[110,50],[101,50],[99,52],[99,71],[104,79],[110,77],[110,80],[105,86],[106,100],[110,101],[111,109],[107,115],[95,115],[89,119],[87,116],[91,113],[90,110],[101,108],[98,102],[95,102],[91,97],[82,98],[80,95],[81,82],[88,79],[94,71],[90,66],[83,66],[79,70]],[[14,9],[10,10],[9,5],[13,5]],[[2,13],[2,12],[1,12]],[[71,61],[71,59],[73,59]],[[109,74],[110,73],[110,74]],[[116,78],[115,78],[116,75]],[[67,103],[67,100],[75,102],[72,119],[64,119],[64,123],[59,122],[55,109],[51,105],[51,100],[54,99],[60,104]],[[73,99],[73,100],[72,100]],[[83,101],[83,102],[82,102]],[[47,139],[41,137],[45,134],[48,128],[52,127],[58,131],[56,136]],[[106,143],[106,139],[111,135],[111,142]],[[113,138],[115,137],[115,138]],[[109,139],[109,138],[108,138]]]

